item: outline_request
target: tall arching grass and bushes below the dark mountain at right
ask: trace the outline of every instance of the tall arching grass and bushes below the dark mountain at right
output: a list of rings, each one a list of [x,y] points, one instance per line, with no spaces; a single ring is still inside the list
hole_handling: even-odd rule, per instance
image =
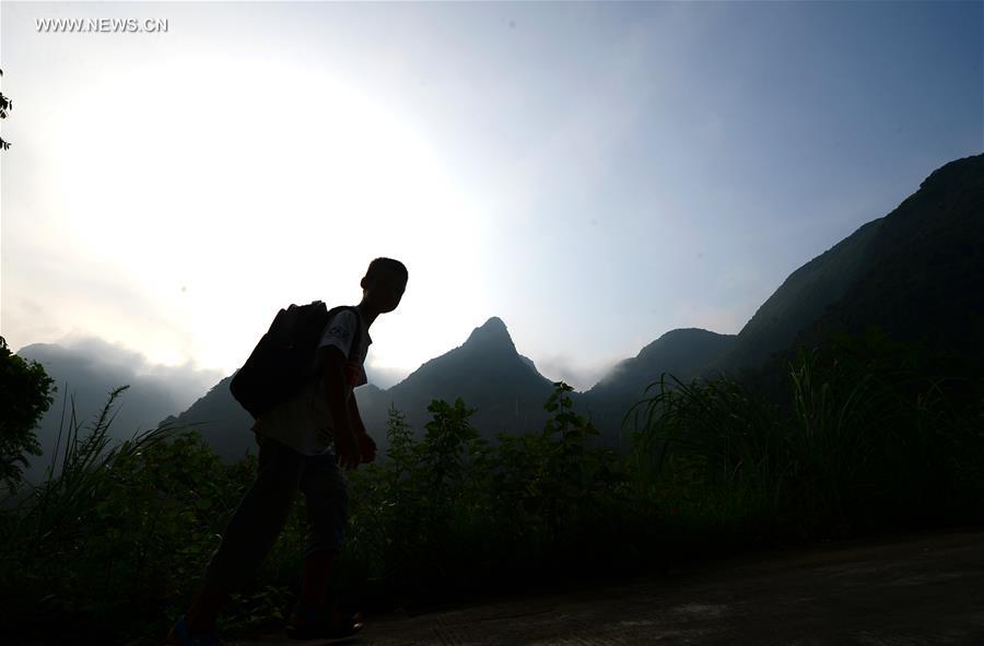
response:
[[[730,380],[669,389],[661,378],[637,404],[637,473],[690,522],[739,531],[807,537],[980,519],[980,412],[948,401],[942,378],[909,367],[909,351],[877,332],[800,348],[784,406]]]

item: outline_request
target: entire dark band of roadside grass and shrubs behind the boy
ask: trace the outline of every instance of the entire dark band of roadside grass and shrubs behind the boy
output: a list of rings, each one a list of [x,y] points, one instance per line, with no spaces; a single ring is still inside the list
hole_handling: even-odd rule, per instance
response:
[[[495,442],[460,399],[432,402],[424,428],[390,410],[385,459],[349,477],[335,585],[364,607],[421,607],[749,548],[980,525],[984,383],[911,359],[840,338],[800,350],[771,399],[727,377],[664,374],[626,411],[624,454],[602,447],[563,383],[543,428]],[[224,466],[191,428],[109,447],[124,390],[85,425],[71,411],[46,482],[0,512],[0,629],[13,643],[157,643],[251,482],[255,456]],[[221,615],[226,634],[282,625],[304,533],[298,500]]]

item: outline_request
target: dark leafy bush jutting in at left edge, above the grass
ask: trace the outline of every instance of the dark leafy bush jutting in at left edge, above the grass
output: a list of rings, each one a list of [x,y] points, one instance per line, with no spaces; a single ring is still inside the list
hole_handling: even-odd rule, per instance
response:
[[[27,466],[24,454],[42,455],[34,430],[54,401],[52,384],[39,363],[12,353],[0,337],[0,480],[11,495]]]

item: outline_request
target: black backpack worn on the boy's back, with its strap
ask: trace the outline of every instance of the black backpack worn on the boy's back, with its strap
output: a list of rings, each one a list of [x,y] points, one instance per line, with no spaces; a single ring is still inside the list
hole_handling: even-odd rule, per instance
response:
[[[233,397],[254,419],[297,394],[318,376],[317,348],[331,318],[344,310],[342,305],[328,310],[325,303],[291,304],[270,324],[243,367],[229,385]],[[356,315],[358,316],[358,315]],[[361,326],[355,329],[350,352],[359,348]]]

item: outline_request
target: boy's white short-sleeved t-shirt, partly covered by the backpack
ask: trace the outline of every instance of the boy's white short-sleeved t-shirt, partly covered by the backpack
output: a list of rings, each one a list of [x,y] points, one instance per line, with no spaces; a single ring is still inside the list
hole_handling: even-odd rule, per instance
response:
[[[343,309],[325,326],[318,349],[335,345],[349,360],[344,363],[345,402],[352,389],[366,383],[365,355],[373,340],[358,310]],[[360,347],[352,349],[356,326],[362,328]],[[305,385],[294,397],[283,401],[261,415],[253,424],[254,433],[272,437],[306,456],[323,455],[333,445],[331,428],[335,426],[331,410],[325,398],[325,379],[318,376]]]

